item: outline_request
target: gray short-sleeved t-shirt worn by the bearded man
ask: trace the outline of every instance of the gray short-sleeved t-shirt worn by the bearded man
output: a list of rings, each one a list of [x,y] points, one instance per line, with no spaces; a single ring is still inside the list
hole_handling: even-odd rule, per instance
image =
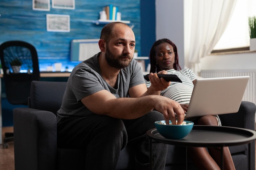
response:
[[[128,97],[130,87],[145,84],[141,67],[132,59],[129,66],[122,68],[117,77],[117,88],[112,88],[102,77],[99,67],[99,55],[78,64],[67,80],[61,108],[57,112],[58,121],[61,117],[85,117],[92,112],[82,104],[81,99],[101,90],[107,90],[115,97]],[[97,101],[95,101],[97,102]]]

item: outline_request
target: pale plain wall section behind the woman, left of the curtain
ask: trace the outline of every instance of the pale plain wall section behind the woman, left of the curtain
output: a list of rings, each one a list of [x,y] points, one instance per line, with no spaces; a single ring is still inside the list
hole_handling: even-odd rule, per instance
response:
[[[156,39],[168,38],[177,46],[179,64],[184,68],[183,0],[155,0]]]

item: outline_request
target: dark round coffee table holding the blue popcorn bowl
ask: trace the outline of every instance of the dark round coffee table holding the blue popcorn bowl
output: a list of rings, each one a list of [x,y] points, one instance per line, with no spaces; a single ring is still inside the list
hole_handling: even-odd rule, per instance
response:
[[[224,146],[236,146],[242,144],[248,144],[248,152],[250,156],[251,142],[256,139],[256,132],[245,128],[235,128],[228,126],[201,126],[194,125],[193,129],[183,139],[167,139],[159,134],[156,128],[150,129],[146,132],[150,139],[150,157],[151,167],[152,166],[152,140],[170,145],[184,146],[184,147],[220,147],[221,149],[221,163],[222,170],[224,169],[223,164],[223,147]],[[250,167],[251,161],[248,158],[248,168]],[[186,169],[187,169],[187,158],[186,158]]]

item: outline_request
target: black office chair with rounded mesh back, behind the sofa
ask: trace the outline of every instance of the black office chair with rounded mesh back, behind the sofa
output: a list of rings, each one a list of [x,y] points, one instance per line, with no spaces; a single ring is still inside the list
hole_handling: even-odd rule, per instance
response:
[[[0,60],[8,102],[13,105],[28,105],[30,84],[33,80],[40,79],[35,47],[23,41],[4,42],[0,45]],[[15,68],[15,65],[20,66]],[[13,132],[5,133],[4,148],[8,147],[9,141],[13,141]]]

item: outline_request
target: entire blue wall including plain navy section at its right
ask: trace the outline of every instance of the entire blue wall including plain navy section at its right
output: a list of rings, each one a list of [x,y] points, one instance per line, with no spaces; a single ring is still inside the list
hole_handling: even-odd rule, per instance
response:
[[[70,61],[71,40],[99,38],[104,25],[92,22],[99,19],[99,11],[108,4],[119,7],[122,20],[130,20],[129,25],[134,25],[136,49],[140,56],[148,56],[155,41],[155,0],[75,0],[74,10],[50,7],[50,11],[32,10],[32,0],[0,0],[0,44],[9,40],[33,44],[38,51],[41,69],[54,62],[62,62],[63,67],[73,67],[78,62]],[[70,32],[47,32],[46,14],[70,15]],[[66,81],[56,77],[42,80]],[[12,110],[16,107],[19,106],[13,106],[5,97],[2,98],[3,126],[13,126]]]

